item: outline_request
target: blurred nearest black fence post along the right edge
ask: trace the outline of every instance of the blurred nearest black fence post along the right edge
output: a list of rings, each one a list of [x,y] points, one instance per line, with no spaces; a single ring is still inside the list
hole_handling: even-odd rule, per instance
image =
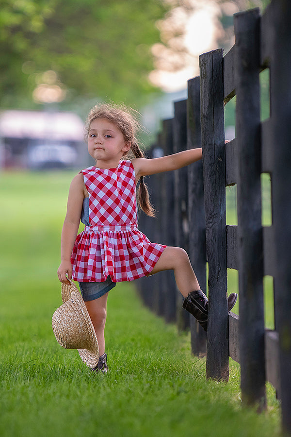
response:
[[[282,424],[291,434],[291,3],[273,1],[274,59],[271,71],[272,175],[275,258],[276,330],[279,332]]]

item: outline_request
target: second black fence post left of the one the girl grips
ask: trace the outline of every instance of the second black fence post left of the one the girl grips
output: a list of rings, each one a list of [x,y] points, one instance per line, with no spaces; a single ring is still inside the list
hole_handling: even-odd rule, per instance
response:
[[[186,126],[187,101],[176,101],[174,103],[173,140],[174,153],[183,151],[187,147],[187,126]],[[187,168],[180,168],[174,171],[174,211],[175,211],[175,235],[176,246],[184,248],[188,252],[188,180]],[[187,234],[187,235],[186,235]],[[189,327],[189,314],[182,307],[183,296],[177,292],[177,324],[178,330],[183,331]]]

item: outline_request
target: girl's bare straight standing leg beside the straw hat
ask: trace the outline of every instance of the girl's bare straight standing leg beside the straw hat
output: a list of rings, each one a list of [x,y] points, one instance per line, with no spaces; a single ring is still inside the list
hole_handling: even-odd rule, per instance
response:
[[[99,346],[99,356],[103,355],[105,352],[105,337],[104,337],[104,329],[106,323],[106,314],[107,314],[107,298],[108,293],[99,297],[98,299],[94,299],[93,301],[85,302],[88,313],[92,320]]]

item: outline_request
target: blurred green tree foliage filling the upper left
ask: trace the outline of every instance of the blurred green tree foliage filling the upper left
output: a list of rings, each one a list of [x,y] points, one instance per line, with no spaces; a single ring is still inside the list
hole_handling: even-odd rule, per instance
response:
[[[154,90],[165,11],[162,0],[0,0],[1,107],[33,107],[33,91],[66,106],[80,95],[138,104]]]

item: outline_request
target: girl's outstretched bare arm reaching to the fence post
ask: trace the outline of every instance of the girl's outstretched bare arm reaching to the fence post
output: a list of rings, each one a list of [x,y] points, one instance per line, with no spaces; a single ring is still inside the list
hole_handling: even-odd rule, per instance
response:
[[[188,166],[202,158],[202,148],[184,150],[173,155],[162,156],[161,158],[134,158],[132,164],[135,170],[136,179],[141,176],[162,173],[163,171],[177,170]]]

